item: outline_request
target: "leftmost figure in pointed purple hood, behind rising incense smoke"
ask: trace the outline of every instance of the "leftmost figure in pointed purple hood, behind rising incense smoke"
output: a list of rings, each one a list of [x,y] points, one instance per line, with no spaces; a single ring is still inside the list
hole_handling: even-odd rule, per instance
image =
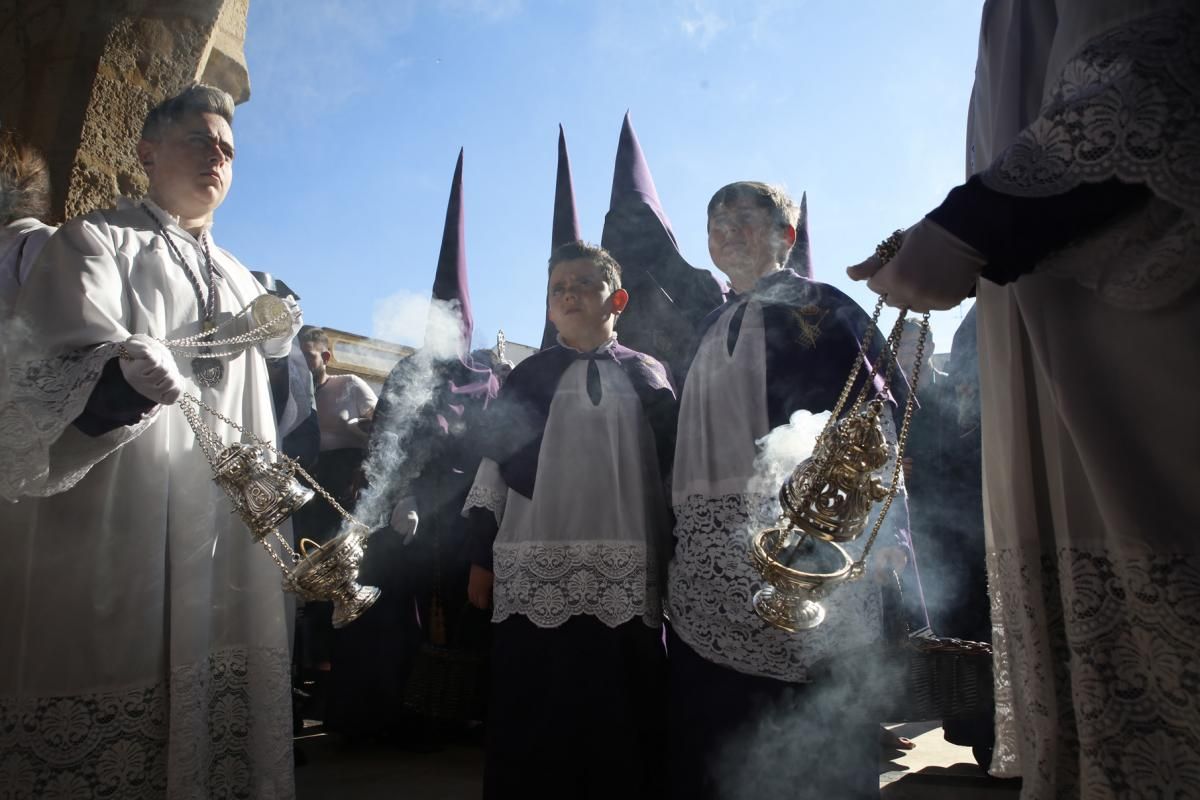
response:
[[[433,687],[431,681],[450,673],[426,655],[461,642],[460,625],[485,634],[487,630],[486,619],[470,625],[476,621],[470,612],[457,613],[466,606],[469,566],[458,510],[479,461],[467,434],[498,389],[490,365],[476,363],[470,354],[474,319],[462,163],[460,150],[425,347],[402,359],[379,392],[365,464],[368,486],[358,504],[367,522],[390,513],[391,528],[402,535],[384,531],[371,542],[361,579],[378,585],[383,595],[359,621],[338,632],[334,672],[340,691],[330,700],[336,729],[398,733],[415,746],[427,744],[431,721],[479,716],[472,687],[481,681],[468,675],[463,686]],[[346,656],[347,667],[338,655]],[[469,697],[460,697],[460,690]],[[400,730],[384,728],[388,724]]]

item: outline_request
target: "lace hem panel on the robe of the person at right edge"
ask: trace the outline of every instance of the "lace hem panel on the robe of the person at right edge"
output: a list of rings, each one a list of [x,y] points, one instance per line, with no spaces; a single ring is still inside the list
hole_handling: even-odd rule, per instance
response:
[[[1034,798],[1200,796],[1200,563],[1002,549],[988,569],[992,774]]]

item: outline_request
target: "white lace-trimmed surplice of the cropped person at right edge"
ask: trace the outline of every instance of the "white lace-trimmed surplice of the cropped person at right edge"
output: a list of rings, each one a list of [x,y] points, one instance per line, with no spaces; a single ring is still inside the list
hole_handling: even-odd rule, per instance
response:
[[[1046,58],[1004,28],[1024,5],[984,12],[984,180],[1046,196],[1118,178],[1154,198],[979,284],[991,771],[1024,798],[1200,796],[1200,417],[1175,408],[1200,363],[1200,26],[1183,2],[1057,4],[1039,113],[1042,82],[1006,72]]]

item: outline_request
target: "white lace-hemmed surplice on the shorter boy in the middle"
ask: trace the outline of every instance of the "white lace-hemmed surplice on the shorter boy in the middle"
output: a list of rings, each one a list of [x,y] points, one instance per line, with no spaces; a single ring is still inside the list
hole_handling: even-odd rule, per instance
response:
[[[488,509],[494,612],[540,627],[590,615],[610,627],[661,624],[656,551],[667,535],[653,432],[624,371],[598,360],[601,399],[587,392],[587,361],[566,368],[550,407],[534,495],[508,488],[484,459],[466,511]]]

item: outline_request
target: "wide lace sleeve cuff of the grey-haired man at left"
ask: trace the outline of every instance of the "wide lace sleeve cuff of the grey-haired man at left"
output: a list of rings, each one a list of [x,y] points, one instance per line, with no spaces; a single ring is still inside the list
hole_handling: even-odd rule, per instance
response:
[[[104,363],[116,355],[116,347],[109,343],[53,359],[5,365],[7,384],[0,386],[0,497],[17,500],[65,492],[154,421],[151,415],[102,437],[80,438],[71,452],[55,452],[52,458],[52,447],[83,413]]]

